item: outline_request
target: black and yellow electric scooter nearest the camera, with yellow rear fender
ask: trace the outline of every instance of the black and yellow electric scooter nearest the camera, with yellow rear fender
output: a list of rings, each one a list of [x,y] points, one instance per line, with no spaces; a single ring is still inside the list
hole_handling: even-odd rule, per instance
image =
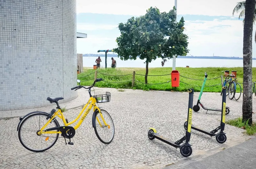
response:
[[[190,140],[190,132],[191,132],[191,125],[192,125],[192,105],[193,105],[193,95],[194,95],[194,89],[188,89],[189,92],[189,99],[188,99],[188,129],[186,129],[186,134],[184,137],[182,137],[180,140],[173,142],[172,140],[169,140],[167,138],[164,138],[163,136],[160,136],[158,133],[156,133],[156,129],[149,128],[148,131],[148,138],[150,140],[153,140],[154,138],[161,140],[164,143],[167,143],[175,148],[180,148],[180,153],[184,157],[188,157],[192,154],[192,148],[191,145],[188,143]],[[185,143],[183,143],[185,141]],[[183,143],[182,145],[180,145]]]

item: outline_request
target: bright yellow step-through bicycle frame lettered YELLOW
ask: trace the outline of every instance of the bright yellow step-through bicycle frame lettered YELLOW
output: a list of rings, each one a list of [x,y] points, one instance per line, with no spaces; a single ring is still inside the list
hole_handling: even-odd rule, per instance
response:
[[[86,107],[89,105],[89,107],[87,108],[87,110],[84,112],[84,110],[86,109]],[[57,116],[63,121],[64,125],[65,126],[68,126],[70,124],[73,124],[74,122],[76,122],[79,117],[83,114],[84,112],[84,115],[81,117],[81,119],[78,121],[78,123],[76,124],[76,126],[74,127],[74,129],[76,130],[81,124],[82,122],[84,121],[85,117],[87,116],[87,114],[89,114],[89,112],[92,110],[92,107],[93,107],[93,111],[95,111],[96,109],[100,112],[100,108],[96,106],[96,99],[93,98],[93,97],[90,97],[90,99],[88,100],[88,102],[84,105],[84,108],[81,110],[81,112],[78,114],[78,116],[76,117],[75,120],[67,123],[66,120],[65,120],[65,117],[63,115],[63,113],[61,112],[61,109],[59,109],[58,111],[56,111],[51,119],[40,129],[40,131],[38,132],[38,134],[61,134],[60,131],[44,131],[44,129],[46,128],[46,126],[53,120],[55,119]],[[106,126],[108,126],[108,124],[106,123],[106,121],[104,120],[102,114],[100,113],[100,116],[102,118],[102,121],[104,122],[104,124]],[[98,117],[96,117],[96,120],[99,122],[100,124],[100,127],[102,127],[102,124],[100,123]]]

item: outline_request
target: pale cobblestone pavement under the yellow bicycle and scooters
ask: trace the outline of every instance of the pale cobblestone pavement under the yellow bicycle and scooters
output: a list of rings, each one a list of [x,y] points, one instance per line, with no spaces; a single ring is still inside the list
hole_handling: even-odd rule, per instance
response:
[[[81,89],[82,90],[82,89]],[[19,118],[0,120],[0,168],[162,168],[185,159],[179,149],[175,149],[157,139],[149,140],[149,127],[174,141],[180,139],[185,130],[187,118],[188,92],[141,91],[125,89],[97,88],[96,94],[111,92],[111,101],[100,107],[107,110],[115,124],[115,137],[112,143],[101,143],[92,128],[92,112],[88,114],[73,137],[74,145],[65,145],[60,137],[49,150],[35,153],[25,149],[16,131]],[[194,94],[194,104],[199,93]],[[220,93],[204,93],[201,101],[204,106],[221,108]],[[255,112],[256,97],[253,97]],[[229,100],[228,119],[242,115],[242,99]],[[52,108],[56,106],[53,105]],[[75,119],[82,108],[67,110],[68,121]],[[51,111],[51,110],[49,110]],[[200,109],[194,112],[193,124],[211,131],[220,124],[220,112]],[[255,114],[253,114],[255,119]],[[61,122],[60,120],[58,120]],[[61,123],[60,123],[61,125]],[[232,144],[245,140],[244,130],[230,125],[225,126],[227,142]],[[215,137],[195,130],[191,132],[192,156],[220,147]]]

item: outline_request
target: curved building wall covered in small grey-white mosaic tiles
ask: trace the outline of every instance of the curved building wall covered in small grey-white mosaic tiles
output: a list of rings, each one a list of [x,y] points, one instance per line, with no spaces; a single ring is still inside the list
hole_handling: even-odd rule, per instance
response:
[[[76,0],[0,0],[0,111],[75,99],[76,59]]]

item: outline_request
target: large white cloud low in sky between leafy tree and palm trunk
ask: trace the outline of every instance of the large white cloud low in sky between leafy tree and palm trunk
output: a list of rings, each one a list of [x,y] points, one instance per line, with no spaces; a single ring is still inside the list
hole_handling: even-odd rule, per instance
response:
[[[186,24],[186,33],[189,36],[190,55],[243,56],[242,21],[190,21]]]

